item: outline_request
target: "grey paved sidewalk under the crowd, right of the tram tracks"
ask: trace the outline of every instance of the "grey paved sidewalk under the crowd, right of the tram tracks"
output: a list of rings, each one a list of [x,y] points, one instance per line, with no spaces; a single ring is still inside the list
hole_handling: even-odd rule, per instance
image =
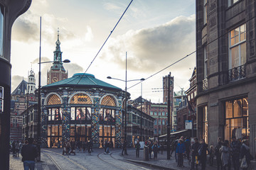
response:
[[[167,160],[167,154],[166,154],[166,151],[164,151],[163,154],[161,154],[161,152],[159,154],[157,154],[157,159],[155,159],[155,160],[150,159],[149,161],[144,161],[144,151],[143,150],[140,150],[139,158],[136,157],[135,149],[128,149],[127,152],[129,155],[124,155],[122,157],[124,157],[124,159],[126,159],[129,162],[136,162],[138,164],[144,164],[147,166],[152,166],[152,167],[156,167],[156,168],[160,168],[160,169],[183,169],[183,170],[190,169],[190,165],[188,164],[188,160],[186,158],[184,159],[184,162],[183,162],[183,165],[185,167],[183,167],[183,168],[177,167],[174,153],[172,154],[172,157],[170,160]],[[201,166],[198,166],[198,169],[201,169]],[[209,166],[209,164],[207,164],[206,169],[213,170],[213,169],[217,169],[217,167]]]

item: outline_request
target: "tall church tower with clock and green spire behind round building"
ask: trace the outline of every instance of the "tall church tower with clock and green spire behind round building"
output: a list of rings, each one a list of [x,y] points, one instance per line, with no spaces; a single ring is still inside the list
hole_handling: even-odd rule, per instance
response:
[[[53,52],[53,66],[50,67],[50,71],[47,72],[47,84],[55,83],[68,78],[68,72],[65,71],[62,62],[62,52],[60,51],[60,40],[58,30],[58,40],[55,42],[56,48]]]

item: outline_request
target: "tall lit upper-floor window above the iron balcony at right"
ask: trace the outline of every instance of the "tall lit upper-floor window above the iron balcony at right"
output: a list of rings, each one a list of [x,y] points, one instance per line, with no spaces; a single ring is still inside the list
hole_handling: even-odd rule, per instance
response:
[[[243,24],[229,33],[229,69],[246,62],[246,25]]]

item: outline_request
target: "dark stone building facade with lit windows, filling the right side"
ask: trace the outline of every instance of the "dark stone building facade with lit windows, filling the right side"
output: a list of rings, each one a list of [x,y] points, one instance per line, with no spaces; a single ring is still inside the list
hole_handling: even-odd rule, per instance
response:
[[[198,137],[256,146],[255,10],[251,0],[196,1]]]

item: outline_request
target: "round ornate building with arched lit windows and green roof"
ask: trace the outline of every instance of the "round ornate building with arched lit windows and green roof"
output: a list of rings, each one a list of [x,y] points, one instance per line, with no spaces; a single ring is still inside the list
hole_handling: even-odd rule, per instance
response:
[[[121,145],[122,89],[92,74],[74,74],[43,86],[42,91],[46,147],[61,147],[64,140],[92,140],[94,147],[102,147],[106,140]]]

